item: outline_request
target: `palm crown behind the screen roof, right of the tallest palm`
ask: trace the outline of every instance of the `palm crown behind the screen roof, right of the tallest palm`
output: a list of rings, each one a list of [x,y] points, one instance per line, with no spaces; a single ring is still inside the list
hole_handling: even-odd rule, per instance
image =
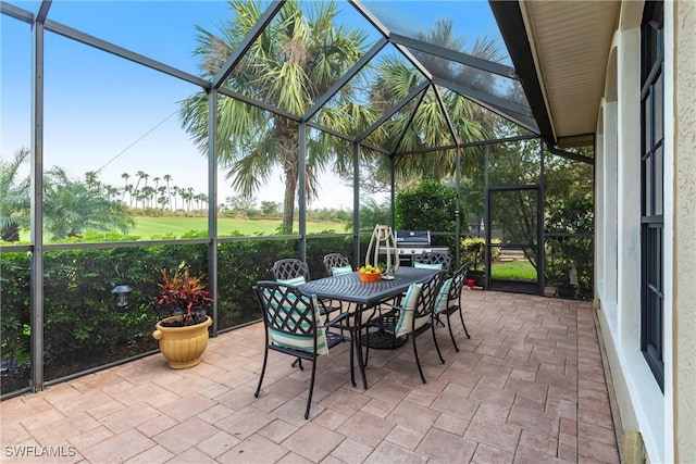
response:
[[[493,40],[477,39],[471,48],[468,48],[464,39],[453,36],[451,21],[438,21],[433,30],[425,35],[421,34],[418,38],[425,42],[465,52],[488,61],[497,62],[502,59],[502,54]],[[432,55],[426,53],[414,51],[413,54],[431,70],[442,67],[446,63],[445,60],[433,59]],[[376,74],[377,78],[371,91],[372,103],[377,108],[385,109],[406,98],[413,88],[413,83],[422,79],[420,72],[400,55],[387,55],[382,59],[377,65]],[[464,66],[464,70],[459,74],[456,74],[449,67],[439,70],[437,74],[449,76],[452,80],[470,83],[470,87],[480,91],[490,92],[495,86],[495,80],[489,73],[482,73],[468,66]],[[493,113],[483,110],[476,103],[462,98],[453,91],[446,89],[439,89],[438,91],[440,91],[444,105],[461,142],[488,138],[494,124]],[[425,95],[415,111],[412,122],[407,127],[409,115],[409,112],[405,112],[401,117],[394,118],[387,124],[388,127],[385,130],[386,142],[383,142],[386,147],[396,148],[396,143],[399,142],[399,150],[410,151],[455,143],[445,115],[432,90],[428,90]],[[403,134],[403,138],[399,141],[401,134]],[[470,156],[469,162],[463,163],[465,168],[475,168],[475,166],[483,165],[481,151],[468,149],[464,155]],[[382,156],[378,160],[378,168],[382,172],[387,170],[384,162],[388,162],[386,156]],[[455,151],[447,150],[399,156],[395,167],[397,180],[401,186],[422,178],[442,181],[455,173]]]

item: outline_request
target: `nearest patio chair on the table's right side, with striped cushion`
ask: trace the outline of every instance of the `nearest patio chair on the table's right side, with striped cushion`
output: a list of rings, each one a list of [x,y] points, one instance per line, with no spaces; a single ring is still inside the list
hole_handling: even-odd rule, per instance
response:
[[[413,356],[423,384],[426,384],[427,380],[425,380],[421,360],[418,356],[418,343],[415,342],[418,336],[431,329],[437,355],[442,363],[445,364],[435,337],[434,310],[437,294],[446,276],[447,273],[440,271],[422,284],[412,284],[406,292],[400,306],[389,305],[389,308],[383,308],[383,312],[368,323],[368,329],[372,327],[391,334],[395,341],[400,337],[411,338]],[[366,359],[370,355],[370,336],[365,337],[365,339],[368,340]]]

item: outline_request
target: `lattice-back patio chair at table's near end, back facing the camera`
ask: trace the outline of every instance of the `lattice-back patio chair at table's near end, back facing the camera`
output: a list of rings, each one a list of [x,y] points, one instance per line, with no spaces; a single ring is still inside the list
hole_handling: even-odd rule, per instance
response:
[[[326,330],[315,296],[302,294],[297,287],[271,280],[258,281],[253,286],[253,291],[265,325],[263,366],[261,367],[259,386],[253,396],[259,398],[261,392],[270,350],[295,356],[299,360],[302,371],[302,360],[310,361],[312,374],[309,383],[307,409],[304,410],[304,418],[308,418],[314,391],[316,360],[319,356],[327,356],[328,350],[345,341],[345,338]]]

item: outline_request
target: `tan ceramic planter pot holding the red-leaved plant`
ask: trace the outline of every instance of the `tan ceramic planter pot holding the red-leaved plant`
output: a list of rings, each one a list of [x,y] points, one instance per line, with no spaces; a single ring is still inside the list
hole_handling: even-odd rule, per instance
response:
[[[176,316],[162,321],[176,319]],[[161,322],[154,325],[152,337],[160,342],[160,351],[173,369],[185,369],[200,364],[200,356],[208,347],[208,327],[213,323],[210,316],[206,321],[186,327],[163,327]]]

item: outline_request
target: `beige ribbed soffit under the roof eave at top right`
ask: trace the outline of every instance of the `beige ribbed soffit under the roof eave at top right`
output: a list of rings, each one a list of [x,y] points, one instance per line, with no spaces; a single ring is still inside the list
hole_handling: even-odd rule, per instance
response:
[[[521,1],[557,138],[596,131],[619,1]]]

